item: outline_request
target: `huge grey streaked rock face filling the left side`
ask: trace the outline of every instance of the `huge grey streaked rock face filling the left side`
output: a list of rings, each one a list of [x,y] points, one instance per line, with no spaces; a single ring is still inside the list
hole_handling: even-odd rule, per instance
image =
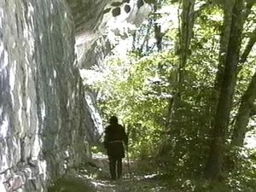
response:
[[[96,141],[100,123],[79,76],[83,62],[93,65],[96,55],[85,59],[82,53],[78,65],[75,37],[94,34],[83,44],[95,44],[111,3],[0,0],[1,192],[46,191],[51,179],[81,163],[88,143]],[[112,4],[112,16],[120,6],[130,13],[127,3]]]

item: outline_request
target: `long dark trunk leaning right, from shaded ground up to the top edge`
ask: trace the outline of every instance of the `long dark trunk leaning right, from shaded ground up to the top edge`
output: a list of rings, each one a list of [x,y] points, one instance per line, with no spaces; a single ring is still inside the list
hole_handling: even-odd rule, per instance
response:
[[[205,175],[210,179],[217,179],[221,176],[223,165],[224,145],[226,131],[229,125],[230,110],[236,86],[236,69],[239,61],[241,49],[241,34],[244,23],[244,1],[236,0],[232,9],[230,40],[227,50],[223,53],[224,75],[220,80],[220,94],[218,99],[217,111],[214,119],[212,132],[212,143],[208,154]]]

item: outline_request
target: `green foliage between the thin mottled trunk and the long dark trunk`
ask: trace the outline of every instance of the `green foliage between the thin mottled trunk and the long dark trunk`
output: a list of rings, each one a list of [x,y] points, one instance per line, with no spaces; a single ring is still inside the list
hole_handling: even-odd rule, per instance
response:
[[[211,13],[206,10],[196,20],[191,41],[193,51],[183,70],[183,86],[178,87],[181,96],[173,114],[170,134],[161,148],[160,158],[166,161],[161,165],[170,169],[168,172],[178,172],[179,176],[201,176],[207,159],[221,22],[212,19],[212,23],[207,24],[206,20],[214,18],[211,14],[216,15],[215,12],[218,13],[215,9]]]

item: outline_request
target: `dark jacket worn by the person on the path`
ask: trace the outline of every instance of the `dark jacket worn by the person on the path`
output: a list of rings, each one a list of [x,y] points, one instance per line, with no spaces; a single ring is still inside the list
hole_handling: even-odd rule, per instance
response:
[[[125,157],[124,144],[127,145],[128,137],[125,128],[119,124],[108,125],[105,130],[104,146],[107,148],[108,156],[114,158]]]

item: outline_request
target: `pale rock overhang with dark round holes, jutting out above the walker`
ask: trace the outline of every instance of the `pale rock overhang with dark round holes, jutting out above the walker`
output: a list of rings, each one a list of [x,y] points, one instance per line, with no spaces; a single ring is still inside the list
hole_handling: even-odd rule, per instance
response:
[[[90,68],[99,65],[151,11],[154,0],[67,0],[73,14],[76,38],[76,65]],[[113,40],[114,39],[114,40]]]

